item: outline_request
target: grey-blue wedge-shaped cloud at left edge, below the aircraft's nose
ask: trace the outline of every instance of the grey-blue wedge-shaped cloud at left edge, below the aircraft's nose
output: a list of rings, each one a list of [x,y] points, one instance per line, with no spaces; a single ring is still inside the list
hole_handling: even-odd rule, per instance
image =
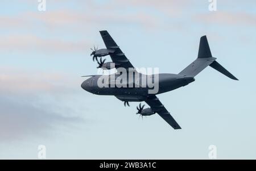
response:
[[[24,101],[26,99],[26,101]],[[63,116],[55,111],[36,107],[27,97],[0,96],[0,141],[45,137],[59,127],[81,122],[76,116]]]

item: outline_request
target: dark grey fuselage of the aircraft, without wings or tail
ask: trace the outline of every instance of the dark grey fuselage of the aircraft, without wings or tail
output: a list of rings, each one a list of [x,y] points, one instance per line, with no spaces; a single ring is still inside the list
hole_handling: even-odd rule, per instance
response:
[[[111,76],[114,76],[116,80],[119,75],[113,74]],[[143,86],[142,80],[144,77],[152,77],[152,80],[154,80],[154,87],[149,86],[147,82]],[[158,77],[157,80],[155,79],[156,77]],[[133,79],[132,83],[129,82],[127,78],[127,84],[130,84],[131,87],[129,87],[129,85],[118,87],[118,85],[115,85],[117,84],[115,81],[108,82],[109,84],[106,87],[100,87],[98,86],[98,82],[101,81],[100,79],[102,79],[102,75],[92,76],[82,82],[81,87],[82,89],[93,94],[114,95],[121,101],[127,102],[141,102],[150,95],[156,95],[165,93],[167,91],[175,90],[179,87],[188,85],[189,83],[195,81],[195,78],[193,77],[187,77],[180,74],[152,74],[151,76],[140,74],[139,80]],[[155,89],[156,86],[158,86],[158,90],[155,91],[155,93],[149,93],[148,90]]]

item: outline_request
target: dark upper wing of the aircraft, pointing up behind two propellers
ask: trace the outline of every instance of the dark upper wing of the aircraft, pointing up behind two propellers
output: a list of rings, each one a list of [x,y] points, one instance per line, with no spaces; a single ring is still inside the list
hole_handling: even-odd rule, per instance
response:
[[[112,61],[115,63],[115,68],[123,67],[126,69],[134,68],[131,62],[126,58],[125,54],[121,51],[108,31],[100,31],[101,37],[106,45],[107,49],[114,50],[114,53],[110,53]]]

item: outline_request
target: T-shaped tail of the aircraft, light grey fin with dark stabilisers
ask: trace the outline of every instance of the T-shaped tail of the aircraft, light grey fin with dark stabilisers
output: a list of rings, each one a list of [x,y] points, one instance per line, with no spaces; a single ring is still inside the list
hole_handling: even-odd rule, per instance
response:
[[[195,77],[202,70],[207,68],[208,65],[216,69],[218,72],[224,74],[225,76],[233,80],[238,80],[230,72],[228,72],[228,70],[226,70],[223,66],[221,66],[216,61],[216,57],[212,57],[207,36],[203,36],[200,39],[199,52],[198,52],[197,59],[193,61],[192,64],[188,65],[187,68],[183,69],[179,74]]]

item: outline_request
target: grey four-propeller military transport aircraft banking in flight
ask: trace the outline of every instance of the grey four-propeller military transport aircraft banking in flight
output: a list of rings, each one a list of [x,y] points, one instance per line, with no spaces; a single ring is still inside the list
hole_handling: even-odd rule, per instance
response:
[[[228,70],[221,66],[216,61],[215,57],[212,57],[212,53],[210,52],[206,36],[201,37],[197,59],[193,61],[190,65],[188,65],[187,68],[181,70],[179,74],[151,74],[150,76],[148,76],[146,74],[137,72],[131,62],[126,58],[125,54],[121,51],[121,49],[109,35],[108,31],[100,31],[100,34],[106,45],[106,49],[97,49],[94,47],[91,54],[91,56],[93,56],[93,60],[97,60],[99,64],[98,68],[108,70],[115,68],[117,71],[121,68],[125,70],[131,69],[135,74],[137,74],[138,78],[127,80],[125,84],[134,85],[131,87],[118,87],[117,85],[112,86],[112,84],[116,84],[115,81],[121,74],[121,72],[117,72],[108,76],[108,78],[114,77],[113,82],[111,81],[111,79],[110,81],[108,80],[107,84],[109,86],[100,87],[98,86],[98,83],[99,81],[101,82],[102,75],[84,76],[89,78],[82,82],[82,89],[98,95],[114,95],[116,98],[123,101],[125,103],[125,106],[129,106],[129,102],[144,101],[147,103],[148,106],[150,106],[150,108],[144,109],[144,105],[141,106],[140,103],[137,107],[137,114],[140,114],[140,116],[143,117],[158,113],[175,130],[181,129],[181,127],[179,126],[179,124],[177,124],[174,118],[172,118],[170,112],[168,112],[164,105],[159,101],[159,99],[156,97],[156,94],[165,93],[167,91],[171,91],[179,87],[188,85],[189,83],[195,81],[194,77],[199,74],[203,69],[205,69],[208,65],[216,69],[218,72],[221,72],[225,76],[233,80],[238,80],[230,72],[228,72]],[[102,61],[101,57],[108,55],[111,57],[112,62],[105,62],[106,59]],[[100,57],[100,60],[98,60],[98,57]],[[154,80],[154,85],[158,84],[157,92],[149,93],[148,90],[151,90],[152,87],[148,86],[148,83],[146,83],[146,85],[144,86],[142,85],[141,82],[145,77],[147,77],[146,80],[149,77]]]

